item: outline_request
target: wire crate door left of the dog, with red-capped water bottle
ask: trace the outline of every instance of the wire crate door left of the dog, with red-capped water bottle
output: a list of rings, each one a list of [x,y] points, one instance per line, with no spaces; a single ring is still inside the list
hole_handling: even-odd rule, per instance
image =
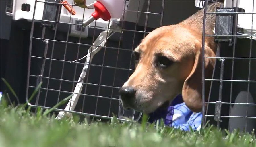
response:
[[[52,108],[64,98],[78,95],[77,106],[68,112],[101,118],[119,114],[120,119],[131,114],[133,119],[139,118],[139,113],[125,112],[119,107],[118,91],[134,71],[132,49],[150,32],[148,19],[158,20],[154,24],[157,27],[162,25],[164,1],[158,3],[161,3],[160,9],[150,12],[150,0],[124,1],[122,18],[108,22],[99,19],[83,26],[82,22],[93,11],[76,6],[72,0],[36,0],[30,35],[27,100],[40,82],[42,85],[29,102],[30,106]],[[142,7],[146,7],[146,11]],[[132,26],[131,19],[136,21]],[[139,20],[143,25],[138,25]],[[107,39],[103,40],[104,37]],[[92,55],[94,50],[98,53]],[[67,103],[55,110],[63,111]]]

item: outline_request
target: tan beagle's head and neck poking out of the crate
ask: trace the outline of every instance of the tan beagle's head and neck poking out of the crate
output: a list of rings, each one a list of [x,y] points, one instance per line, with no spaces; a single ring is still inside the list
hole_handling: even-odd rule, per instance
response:
[[[215,12],[222,3],[208,5]],[[150,32],[135,48],[135,71],[119,91],[125,109],[149,114],[179,94],[193,112],[202,111],[202,30],[204,8],[179,24]],[[207,14],[205,34],[213,34],[215,14]],[[205,37],[205,57],[216,56],[213,37]],[[205,58],[210,79],[215,59]],[[205,98],[210,82],[205,81]],[[207,99],[206,99],[207,100]]]

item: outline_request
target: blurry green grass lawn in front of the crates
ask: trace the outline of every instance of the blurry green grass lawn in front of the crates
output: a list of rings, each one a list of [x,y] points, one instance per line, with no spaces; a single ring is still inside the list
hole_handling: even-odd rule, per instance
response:
[[[6,94],[5,94],[6,95]],[[216,129],[207,125],[200,131],[181,131],[164,127],[162,122],[120,122],[113,117],[109,122],[99,120],[80,122],[73,119],[56,120],[51,110],[20,105],[7,106],[6,96],[0,105],[0,146],[253,146],[254,133]],[[67,99],[67,98],[66,98]]]

